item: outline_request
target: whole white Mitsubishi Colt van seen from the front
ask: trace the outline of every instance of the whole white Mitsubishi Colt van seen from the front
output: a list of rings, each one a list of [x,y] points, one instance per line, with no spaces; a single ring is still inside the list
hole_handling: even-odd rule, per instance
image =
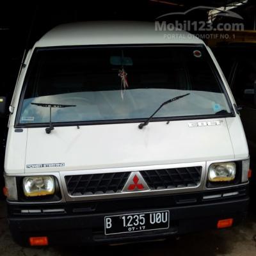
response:
[[[189,33],[58,26],[28,52],[10,111],[4,191],[19,244],[125,243],[244,218],[243,125]]]

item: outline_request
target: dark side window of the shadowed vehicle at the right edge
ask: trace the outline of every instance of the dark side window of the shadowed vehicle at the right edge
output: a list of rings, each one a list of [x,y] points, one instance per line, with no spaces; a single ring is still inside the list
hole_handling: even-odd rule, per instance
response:
[[[238,64],[232,90],[239,104],[256,108],[256,60]]]

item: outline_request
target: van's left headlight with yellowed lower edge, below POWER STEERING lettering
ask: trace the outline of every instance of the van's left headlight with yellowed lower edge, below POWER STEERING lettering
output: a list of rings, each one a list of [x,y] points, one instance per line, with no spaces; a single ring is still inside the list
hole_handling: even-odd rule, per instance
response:
[[[26,196],[46,196],[55,193],[54,177],[31,176],[23,179],[23,191]]]

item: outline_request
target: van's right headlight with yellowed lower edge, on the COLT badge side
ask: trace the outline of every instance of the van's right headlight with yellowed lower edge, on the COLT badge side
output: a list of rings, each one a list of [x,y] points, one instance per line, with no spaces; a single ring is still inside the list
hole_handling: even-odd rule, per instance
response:
[[[209,167],[208,180],[211,182],[225,182],[236,177],[236,163],[215,163]]]

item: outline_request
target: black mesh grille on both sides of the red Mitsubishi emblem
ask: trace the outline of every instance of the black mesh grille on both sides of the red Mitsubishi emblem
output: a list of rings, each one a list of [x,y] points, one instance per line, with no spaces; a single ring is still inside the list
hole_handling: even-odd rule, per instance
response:
[[[150,191],[195,188],[200,184],[202,166],[139,171]],[[132,172],[67,175],[65,182],[70,196],[121,194]]]

